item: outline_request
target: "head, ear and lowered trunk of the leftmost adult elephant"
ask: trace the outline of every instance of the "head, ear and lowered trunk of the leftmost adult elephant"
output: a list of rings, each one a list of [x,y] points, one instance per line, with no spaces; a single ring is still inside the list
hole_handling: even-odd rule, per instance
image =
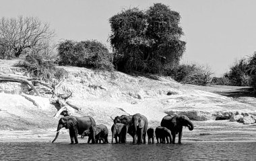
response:
[[[59,124],[57,127],[57,134],[55,136],[55,139],[53,139],[52,142],[54,142],[58,136],[59,136],[59,131],[65,127],[66,129],[71,129],[73,128],[73,130],[77,130],[77,119],[75,119],[74,117],[62,117],[61,119],[59,119]]]

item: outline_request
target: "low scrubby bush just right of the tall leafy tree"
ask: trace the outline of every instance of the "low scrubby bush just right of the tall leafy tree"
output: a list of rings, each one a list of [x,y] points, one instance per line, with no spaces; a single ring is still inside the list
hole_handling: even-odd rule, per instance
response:
[[[171,69],[166,69],[166,75],[184,84],[205,86],[212,82],[213,73],[208,66],[190,64],[177,65]]]

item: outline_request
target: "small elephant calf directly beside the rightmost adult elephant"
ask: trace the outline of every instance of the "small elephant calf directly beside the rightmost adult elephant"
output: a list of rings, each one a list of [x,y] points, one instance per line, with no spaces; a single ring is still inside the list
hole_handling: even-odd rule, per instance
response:
[[[156,127],[156,140],[158,141],[158,139],[160,139],[160,143],[165,143],[165,139],[167,143],[171,143],[172,135],[170,133],[170,130],[166,127]]]

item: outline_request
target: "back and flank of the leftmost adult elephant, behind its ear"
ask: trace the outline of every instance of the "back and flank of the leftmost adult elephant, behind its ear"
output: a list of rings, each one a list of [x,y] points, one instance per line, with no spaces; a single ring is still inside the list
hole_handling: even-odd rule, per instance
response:
[[[75,119],[77,119],[77,129],[79,135],[82,135],[82,133],[89,129],[91,126],[96,125],[94,119],[89,116],[75,117]]]

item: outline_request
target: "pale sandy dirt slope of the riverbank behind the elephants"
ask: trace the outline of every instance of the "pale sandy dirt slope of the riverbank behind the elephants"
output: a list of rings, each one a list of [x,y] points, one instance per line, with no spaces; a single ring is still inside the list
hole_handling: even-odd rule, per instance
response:
[[[179,84],[170,77],[127,75],[118,71],[94,71],[79,67],[63,68],[69,74],[63,81],[60,92],[73,92],[69,100],[82,108],[75,115],[90,115],[97,124],[103,123],[110,128],[113,124],[110,116],[133,115],[139,112],[148,118],[151,127],[156,127],[166,114],[185,114],[192,120],[197,120],[193,121],[194,131],[185,129],[187,138],[191,140],[200,140],[200,134],[203,133],[218,133],[219,137],[216,138],[229,136],[232,131],[230,125],[234,125],[240,132],[243,131],[243,135],[249,136],[248,138],[256,140],[255,133],[250,132],[251,129],[255,130],[254,125],[214,121],[218,116],[235,112],[255,114],[255,104],[248,101],[255,100],[254,98],[246,97],[245,101],[241,101],[206,92],[207,90],[198,90],[197,86]],[[3,64],[1,73],[24,74],[22,69]],[[54,133],[53,129],[56,128],[58,120],[53,119],[53,115],[57,110],[49,104],[49,98],[22,94],[22,89],[24,87],[18,83],[0,83],[1,130],[51,129],[48,132]],[[220,133],[220,129],[223,133]],[[46,135],[48,132],[40,133]],[[5,133],[9,135],[9,132]],[[8,137],[7,135],[2,137]],[[212,138],[208,135],[203,137],[205,140]]]

